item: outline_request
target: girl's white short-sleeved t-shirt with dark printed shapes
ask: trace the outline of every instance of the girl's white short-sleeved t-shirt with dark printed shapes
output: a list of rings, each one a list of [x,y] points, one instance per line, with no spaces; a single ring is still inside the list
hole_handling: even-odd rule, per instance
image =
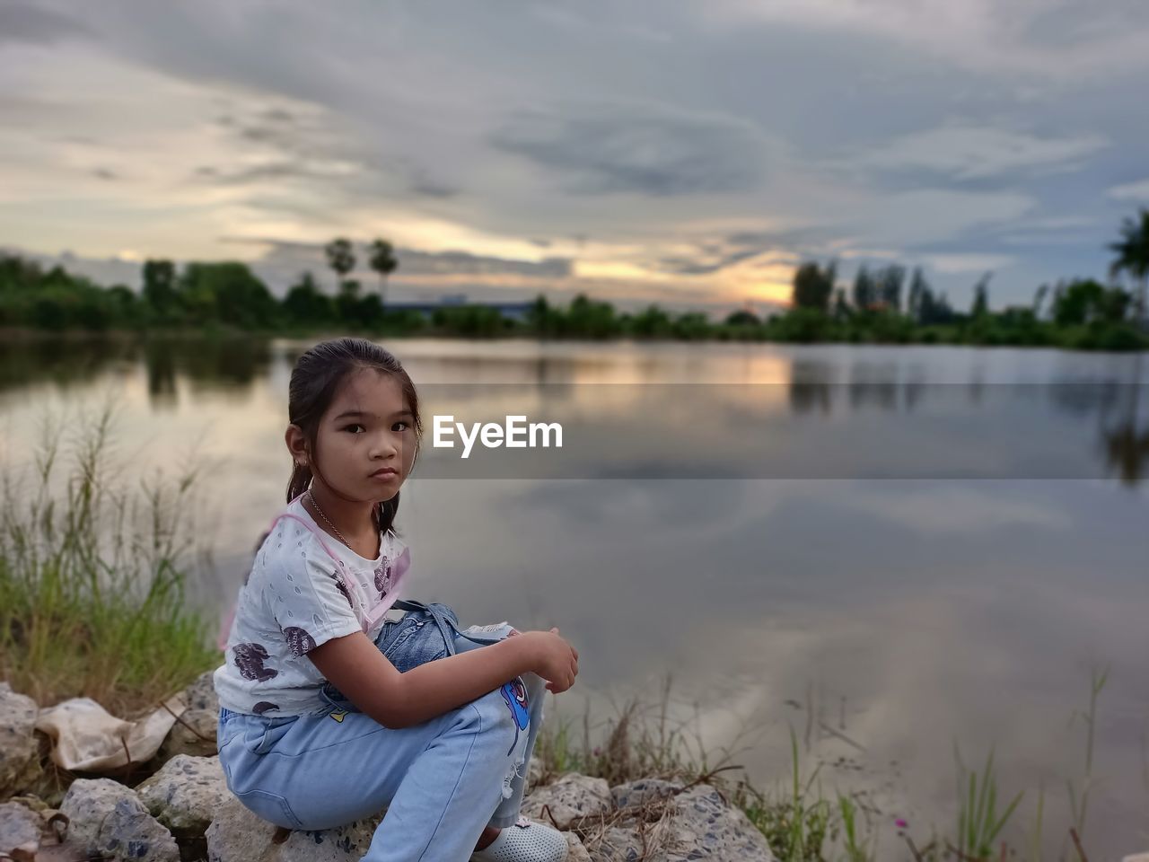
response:
[[[215,672],[219,706],[270,716],[327,711],[319,696],[326,680],[307,654],[356,631],[373,640],[409,567],[409,548],[390,530],[378,559],[368,560],[321,530],[295,498],[239,591],[224,664]]]

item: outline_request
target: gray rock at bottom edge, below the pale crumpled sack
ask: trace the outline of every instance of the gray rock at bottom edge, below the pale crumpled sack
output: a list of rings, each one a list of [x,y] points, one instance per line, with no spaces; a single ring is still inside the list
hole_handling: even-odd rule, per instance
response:
[[[60,810],[70,821],[68,844],[82,853],[123,862],[179,862],[176,839],[117,782],[77,779]]]

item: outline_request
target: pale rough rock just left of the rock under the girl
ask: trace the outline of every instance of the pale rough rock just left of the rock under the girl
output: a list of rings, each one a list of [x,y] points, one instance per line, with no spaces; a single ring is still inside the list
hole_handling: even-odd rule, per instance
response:
[[[140,802],[176,839],[202,839],[215,814],[230,798],[218,757],[178,754],[136,788]]]

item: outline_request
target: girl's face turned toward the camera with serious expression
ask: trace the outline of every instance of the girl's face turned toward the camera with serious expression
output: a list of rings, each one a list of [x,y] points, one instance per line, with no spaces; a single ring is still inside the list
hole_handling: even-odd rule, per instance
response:
[[[390,500],[415,462],[414,421],[396,377],[373,368],[352,372],[319,420],[322,480],[352,500]]]

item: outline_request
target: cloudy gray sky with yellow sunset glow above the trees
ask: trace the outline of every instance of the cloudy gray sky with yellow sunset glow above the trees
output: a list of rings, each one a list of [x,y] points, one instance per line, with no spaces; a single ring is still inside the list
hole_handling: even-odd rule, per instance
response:
[[[1000,307],[1149,206],[1147,72],[1144,0],[0,0],[0,246],[282,293],[381,236],[393,299],[712,309],[899,261]]]

